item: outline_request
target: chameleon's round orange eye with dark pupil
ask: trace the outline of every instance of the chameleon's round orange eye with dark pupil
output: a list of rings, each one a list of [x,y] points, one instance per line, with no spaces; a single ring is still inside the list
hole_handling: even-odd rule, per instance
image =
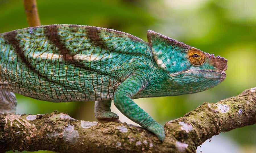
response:
[[[195,66],[200,66],[205,62],[205,54],[200,50],[191,49],[187,54],[190,63]]]

